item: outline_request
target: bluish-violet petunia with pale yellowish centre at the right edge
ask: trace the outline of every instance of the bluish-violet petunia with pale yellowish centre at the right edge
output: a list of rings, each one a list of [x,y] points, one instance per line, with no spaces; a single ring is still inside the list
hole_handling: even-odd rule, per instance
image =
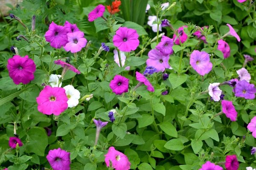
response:
[[[236,84],[234,88],[235,96],[237,97],[244,97],[245,99],[254,99],[256,88],[253,84],[242,80]]]

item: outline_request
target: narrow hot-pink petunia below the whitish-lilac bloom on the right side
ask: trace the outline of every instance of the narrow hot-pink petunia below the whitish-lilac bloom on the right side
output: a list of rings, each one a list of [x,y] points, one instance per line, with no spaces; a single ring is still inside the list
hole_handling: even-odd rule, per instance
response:
[[[231,121],[236,121],[237,112],[232,101],[222,100],[221,101],[222,112],[226,114]]]

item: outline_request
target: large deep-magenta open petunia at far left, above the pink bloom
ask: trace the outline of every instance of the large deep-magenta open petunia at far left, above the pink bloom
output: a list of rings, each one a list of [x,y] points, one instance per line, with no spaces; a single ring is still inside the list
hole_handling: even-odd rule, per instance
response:
[[[13,56],[8,59],[6,67],[9,71],[9,76],[16,85],[21,82],[23,84],[28,84],[35,78],[35,62],[32,59],[29,59],[29,56],[27,55],[25,57],[20,57],[18,55]]]

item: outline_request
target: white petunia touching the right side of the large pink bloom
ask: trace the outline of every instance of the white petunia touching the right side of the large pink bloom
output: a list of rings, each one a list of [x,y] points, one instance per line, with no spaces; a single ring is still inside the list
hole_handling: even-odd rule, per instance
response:
[[[76,90],[73,85],[66,85],[64,87],[65,92],[67,94],[67,105],[69,108],[73,108],[76,105],[78,105],[79,103],[79,99],[80,99],[80,92],[78,90]]]

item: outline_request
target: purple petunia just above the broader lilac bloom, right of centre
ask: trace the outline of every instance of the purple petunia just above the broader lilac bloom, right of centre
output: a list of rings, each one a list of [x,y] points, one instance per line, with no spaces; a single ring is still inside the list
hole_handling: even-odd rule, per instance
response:
[[[159,42],[156,48],[157,50],[160,51],[161,54],[170,55],[170,54],[173,54],[172,46],[173,46],[173,40],[163,35],[161,42]]]

